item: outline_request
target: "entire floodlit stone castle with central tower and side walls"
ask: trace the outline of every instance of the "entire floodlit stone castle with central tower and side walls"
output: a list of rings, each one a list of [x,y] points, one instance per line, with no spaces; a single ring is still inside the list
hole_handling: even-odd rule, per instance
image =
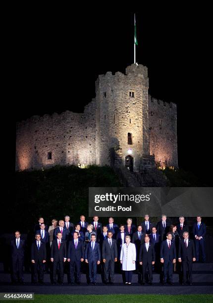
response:
[[[176,104],[148,95],[147,67],[100,75],[83,113],[32,116],[17,123],[16,170],[53,165],[177,167]]]

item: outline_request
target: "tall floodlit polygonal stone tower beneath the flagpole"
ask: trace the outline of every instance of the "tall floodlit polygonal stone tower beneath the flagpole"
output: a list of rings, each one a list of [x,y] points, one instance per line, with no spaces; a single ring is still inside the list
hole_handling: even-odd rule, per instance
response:
[[[96,163],[139,171],[150,160],[147,67],[132,64],[126,75],[100,75],[96,81]],[[112,163],[114,162],[114,163]]]

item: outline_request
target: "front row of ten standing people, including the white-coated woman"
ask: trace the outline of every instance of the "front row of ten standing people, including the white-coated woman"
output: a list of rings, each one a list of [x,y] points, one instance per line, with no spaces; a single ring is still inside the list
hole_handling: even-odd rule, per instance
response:
[[[44,284],[44,264],[47,261],[46,245],[41,241],[41,235],[36,234],[36,240],[31,246],[31,262],[33,264],[33,283],[37,283],[37,275],[40,283]],[[125,236],[125,243],[120,250],[120,263],[122,270],[125,272],[125,284],[130,285],[132,281],[132,272],[136,269],[136,260],[142,266],[143,280],[145,284],[145,274],[148,269],[149,284],[153,281],[153,265],[156,260],[154,244],[150,241],[149,236],[145,236],[144,243],[140,245],[140,250],[136,252],[136,245],[131,243],[129,235]],[[14,242],[14,243],[13,243]],[[112,238],[112,232],[107,232],[107,237],[103,241],[102,248],[96,242],[96,235],[92,234],[90,242],[84,247],[84,242],[79,239],[78,233],[73,233],[73,239],[68,243],[62,240],[62,234],[58,232],[56,239],[51,246],[51,261],[53,263],[53,285],[56,284],[56,272],[59,270],[59,281],[63,285],[64,262],[69,262],[70,284],[74,284],[74,273],[76,273],[77,284],[81,283],[81,263],[85,260],[89,265],[89,284],[96,285],[97,265],[103,260],[105,282],[114,283],[114,266],[118,258],[116,240]],[[101,257],[102,249],[102,257]],[[163,264],[163,285],[168,282],[173,285],[172,273],[173,264],[178,261],[182,263],[183,278],[182,285],[188,282],[192,285],[192,263],[196,261],[196,252],[194,241],[189,239],[189,233],[183,232],[178,252],[176,252],[175,243],[172,240],[171,232],[166,234],[166,240],[160,245],[160,262]],[[12,241],[12,260],[13,264],[13,281],[18,280],[23,284],[23,262],[24,262],[24,240],[20,239],[20,232],[15,232],[15,239]],[[187,277],[188,273],[188,277]]]

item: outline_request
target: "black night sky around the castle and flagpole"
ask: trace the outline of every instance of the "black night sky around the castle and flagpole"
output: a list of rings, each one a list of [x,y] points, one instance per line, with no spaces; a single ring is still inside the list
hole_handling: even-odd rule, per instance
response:
[[[212,128],[207,11],[154,4],[136,10],[136,60],[148,67],[149,93],[177,104],[179,166],[204,174],[210,167]],[[64,8],[19,18],[9,50],[13,123],[31,115],[83,111],[95,97],[99,74],[124,72],[133,63],[133,12],[103,8],[77,15]]]

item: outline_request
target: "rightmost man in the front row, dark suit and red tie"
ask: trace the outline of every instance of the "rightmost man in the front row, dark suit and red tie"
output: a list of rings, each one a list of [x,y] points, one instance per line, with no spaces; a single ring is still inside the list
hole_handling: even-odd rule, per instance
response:
[[[189,240],[189,233],[183,232],[184,239],[181,239],[179,242],[179,252],[178,252],[178,261],[182,262],[183,268],[183,279],[182,285],[188,280],[188,283],[192,285],[192,263],[195,262],[196,252],[195,244],[193,240]],[[187,279],[188,271],[188,279]]]

